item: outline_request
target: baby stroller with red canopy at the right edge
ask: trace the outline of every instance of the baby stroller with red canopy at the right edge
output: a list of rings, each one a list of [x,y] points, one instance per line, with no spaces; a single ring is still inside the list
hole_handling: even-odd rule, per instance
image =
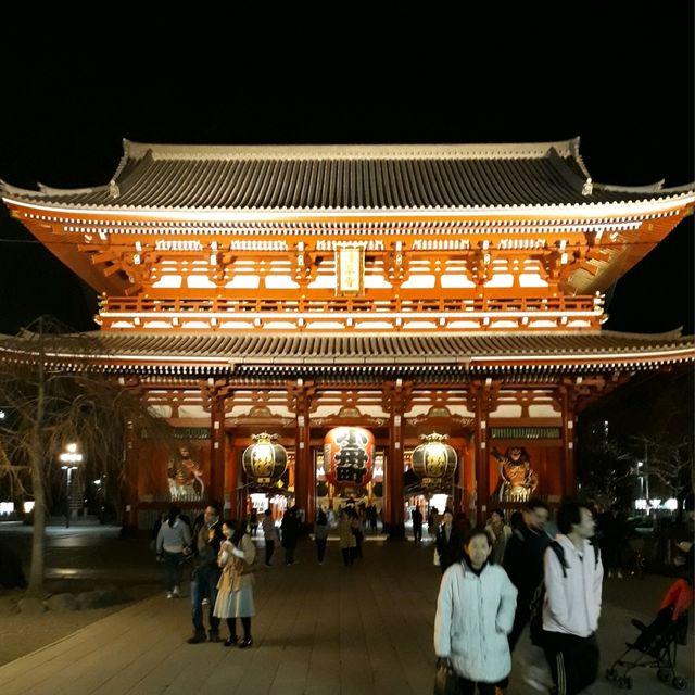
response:
[[[682,596],[682,592],[687,591],[690,594]],[[682,597],[674,598],[677,594]],[[661,683],[670,683],[679,691],[685,690],[687,681],[675,673],[675,657],[678,645],[687,642],[686,608],[692,601],[692,586],[680,579],[671,585],[659,612],[648,626],[633,618],[632,624],[640,633],[633,642],[626,643],[628,649],[606,670],[606,678],[618,687],[630,690],[630,671],[636,667],[652,668],[656,669],[656,677]]]

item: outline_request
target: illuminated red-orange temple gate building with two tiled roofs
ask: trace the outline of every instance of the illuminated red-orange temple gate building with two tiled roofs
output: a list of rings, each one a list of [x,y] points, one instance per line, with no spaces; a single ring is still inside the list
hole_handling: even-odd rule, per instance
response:
[[[100,293],[97,362],[180,428],[198,490],[231,514],[261,432],[288,471],[258,489],[289,491],[307,521],[317,501],[364,494],[401,533],[404,469],[432,433],[457,454],[457,508],[485,516],[492,452],[510,448],[528,453],[535,494],[559,500],[574,491],[583,405],[695,358],[692,337],[601,329],[603,292],[692,213],[694,186],[596,184],[578,140],[125,141],[104,186],[2,195]],[[324,440],[340,427],[374,434],[368,485],[326,479]],[[146,526],[170,463],[132,437],[130,521]]]

